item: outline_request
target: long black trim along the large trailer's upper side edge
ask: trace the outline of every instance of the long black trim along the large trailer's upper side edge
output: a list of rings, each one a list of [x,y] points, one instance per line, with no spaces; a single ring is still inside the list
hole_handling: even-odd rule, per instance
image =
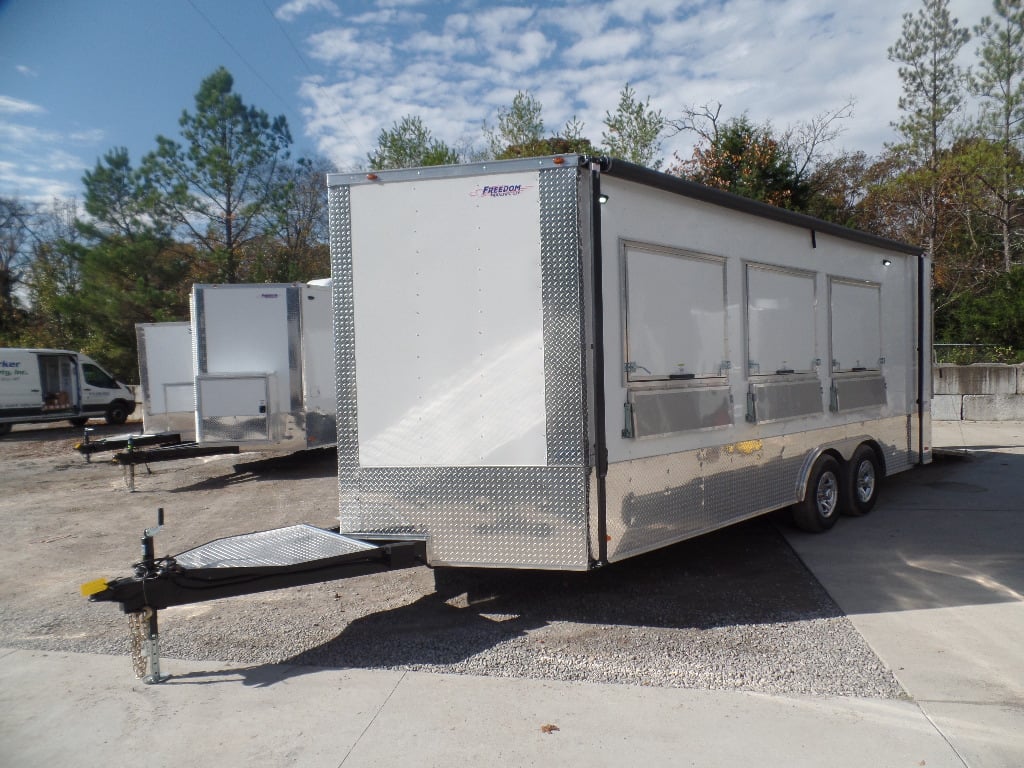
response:
[[[679,178],[678,176],[671,176],[668,173],[653,171],[650,168],[645,168],[644,166],[636,165],[634,163],[628,163],[625,160],[602,158],[601,172],[607,174],[608,176],[614,176],[615,178],[625,179],[626,181],[635,181],[638,184],[644,184],[646,186],[664,189],[665,191],[673,193],[675,195],[693,198],[694,200],[699,200],[703,203],[711,203],[712,205],[721,206],[722,208],[731,208],[734,211],[749,213],[752,216],[760,216],[773,221],[780,221],[783,224],[800,226],[805,229],[811,229],[815,232],[833,234],[837,238],[842,238],[843,240],[852,240],[856,243],[863,243],[864,245],[874,246],[876,248],[884,248],[888,251],[899,251],[900,253],[906,253],[912,256],[920,256],[925,252],[925,249],[918,248],[906,243],[889,240],[888,238],[880,238],[877,234],[870,234],[859,229],[851,229],[850,227],[843,226],[841,224],[834,224],[833,222],[825,221],[824,219],[808,216],[806,213],[797,213],[796,211],[788,211],[785,208],[770,206],[767,203],[761,203],[756,200],[751,200],[750,198],[733,195],[732,193],[715,189],[710,186],[705,186],[703,184],[697,184],[693,181],[687,181]]]

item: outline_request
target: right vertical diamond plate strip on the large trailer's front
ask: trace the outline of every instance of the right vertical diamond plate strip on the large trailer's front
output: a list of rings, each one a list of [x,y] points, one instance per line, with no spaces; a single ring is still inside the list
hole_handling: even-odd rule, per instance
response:
[[[580,170],[540,173],[544,380],[549,466],[584,465],[587,444],[584,378]]]

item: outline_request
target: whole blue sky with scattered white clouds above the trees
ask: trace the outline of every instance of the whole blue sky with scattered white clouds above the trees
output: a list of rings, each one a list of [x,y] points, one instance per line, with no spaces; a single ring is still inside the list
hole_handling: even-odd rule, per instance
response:
[[[549,132],[577,117],[600,142],[628,81],[667,117],[721,102],[785,127],[856,101],[836,148],[894,138],[887,48],[918,0],[0,0],[0,195],[81,196],[104,153],[132,162],[178,137],[223,66],[248,104],[288,118],[293,155],[366,163],[382,128],[423,118],[450,144],[517,90]],[[988,0],[951,0],[971,27]],[[689,154],[672,137],[663,155]]]

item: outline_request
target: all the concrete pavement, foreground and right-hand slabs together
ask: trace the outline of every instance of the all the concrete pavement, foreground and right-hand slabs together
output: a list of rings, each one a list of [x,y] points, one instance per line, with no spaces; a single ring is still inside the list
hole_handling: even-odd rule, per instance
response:
[[[935,425],[972,458],[787,531],[907,700],[0,649],[0,764],[1024,765],[1024,424]]]

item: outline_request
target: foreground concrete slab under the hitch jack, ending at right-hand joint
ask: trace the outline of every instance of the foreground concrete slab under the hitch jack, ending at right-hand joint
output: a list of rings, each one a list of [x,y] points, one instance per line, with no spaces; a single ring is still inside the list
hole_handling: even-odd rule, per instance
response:
[[[7,650],[6,766],[961,767],[910,701]],[[554,727],[551,727],[554,726]]]

